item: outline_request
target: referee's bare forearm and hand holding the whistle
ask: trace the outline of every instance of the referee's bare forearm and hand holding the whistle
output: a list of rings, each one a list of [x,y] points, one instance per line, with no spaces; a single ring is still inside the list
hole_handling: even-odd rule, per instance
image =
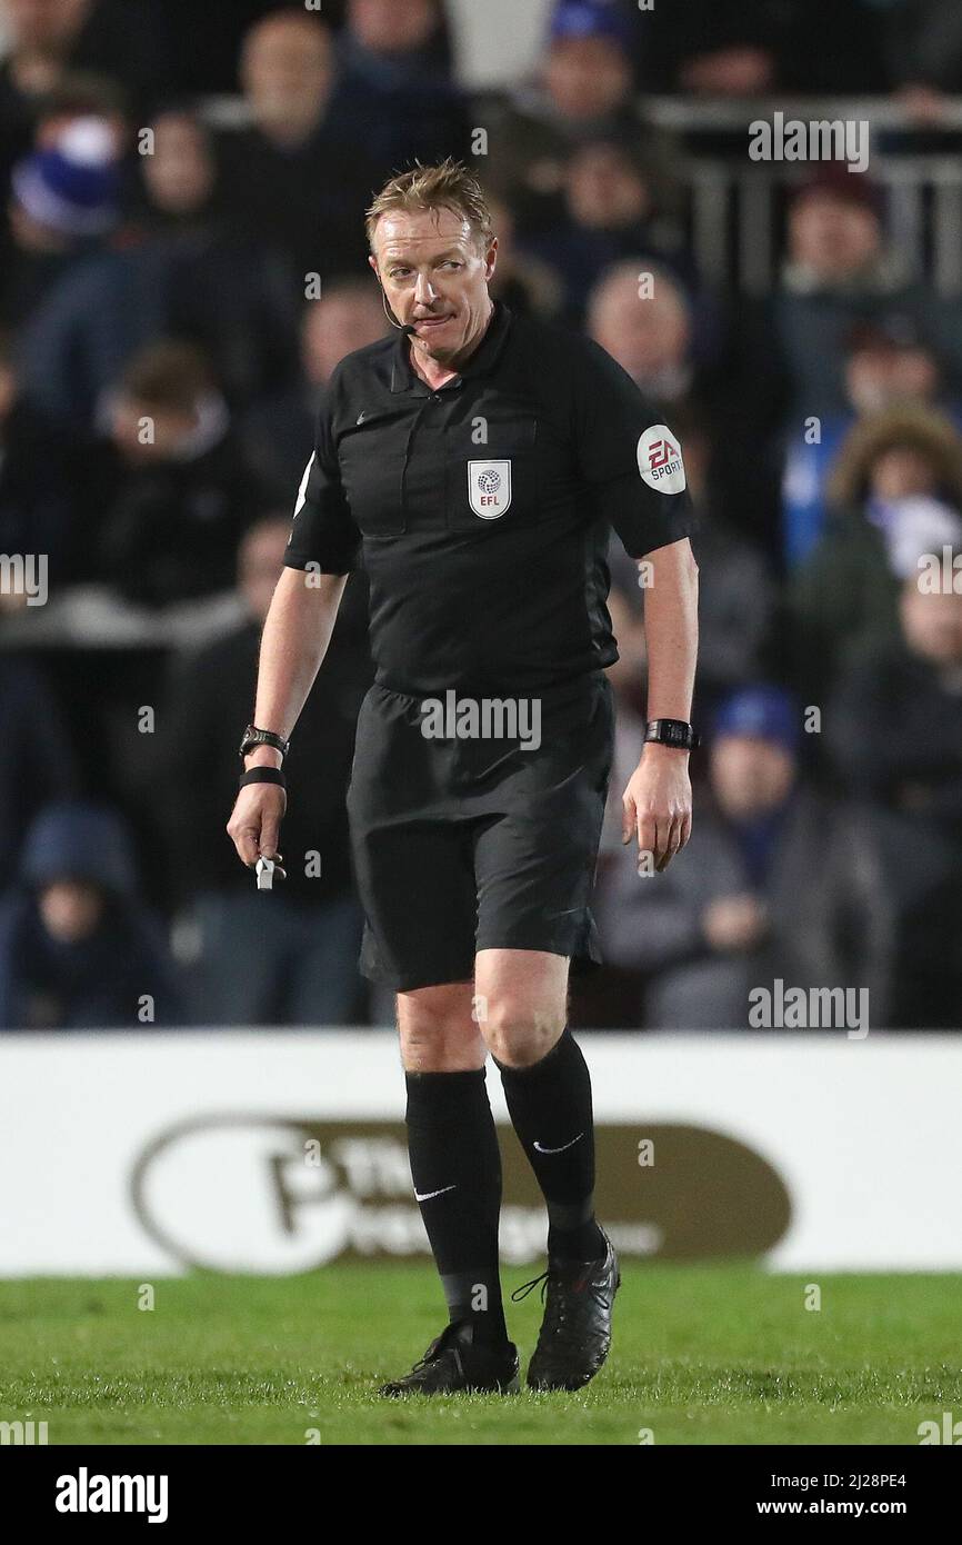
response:
[[[290,737],[327,654],[347,575],[284,569],[261,633],[253,723]],[[281,765],[273,746],[256,746],[246,768]],[[239,857],[253,867],[261,854],[276,856],[287,796],[279,783],[249,783],[238,793],[227,834]]]

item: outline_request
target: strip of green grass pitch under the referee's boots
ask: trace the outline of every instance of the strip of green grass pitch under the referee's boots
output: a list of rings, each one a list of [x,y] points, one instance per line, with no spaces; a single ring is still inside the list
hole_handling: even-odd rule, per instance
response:
[[[523,1270],[505,1272],[508,1289]],[[804,1285],[821,1287],[806,1312]],[[0,1420],[49,1443],[905,1443],[962,1417],[960,1278],[630,1265],[578,1395],[380,1400],[443,1324],[426,1265],[295,1278],[0,1282]],[[537,1293],[508,1306],[522,1367]]]

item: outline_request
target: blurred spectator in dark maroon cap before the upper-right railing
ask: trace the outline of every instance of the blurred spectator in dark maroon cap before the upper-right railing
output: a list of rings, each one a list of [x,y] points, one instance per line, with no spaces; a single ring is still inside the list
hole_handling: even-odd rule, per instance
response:
[[[894,312],[908,318],[919,340],[940,348],[957,377],[957,307],[956,315],[940,307],[886,247],[880,196],[865,176],[826,165],[792,201],[789,253],[774,300],[798,426],[812,414],[846,411],[845,340],[857,323]]]

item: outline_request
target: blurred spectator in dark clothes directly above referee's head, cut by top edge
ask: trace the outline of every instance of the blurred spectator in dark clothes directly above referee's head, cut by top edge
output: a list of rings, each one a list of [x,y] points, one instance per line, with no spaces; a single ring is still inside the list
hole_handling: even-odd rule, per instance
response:
[[[466,158],[466,104],[451,80],[440,0],[347,0],[330,116],[380,181],[445,156]]]

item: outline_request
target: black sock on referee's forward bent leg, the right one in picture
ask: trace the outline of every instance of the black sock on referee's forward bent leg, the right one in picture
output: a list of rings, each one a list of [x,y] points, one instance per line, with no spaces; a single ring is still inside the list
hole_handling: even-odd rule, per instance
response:
[[[581,1046],[565,1027],[531,1068],[497,1068],[514,1131],[548,1204],[548,1255],[604,1256],[605,1239],[594,1222],[591,1077]]]

